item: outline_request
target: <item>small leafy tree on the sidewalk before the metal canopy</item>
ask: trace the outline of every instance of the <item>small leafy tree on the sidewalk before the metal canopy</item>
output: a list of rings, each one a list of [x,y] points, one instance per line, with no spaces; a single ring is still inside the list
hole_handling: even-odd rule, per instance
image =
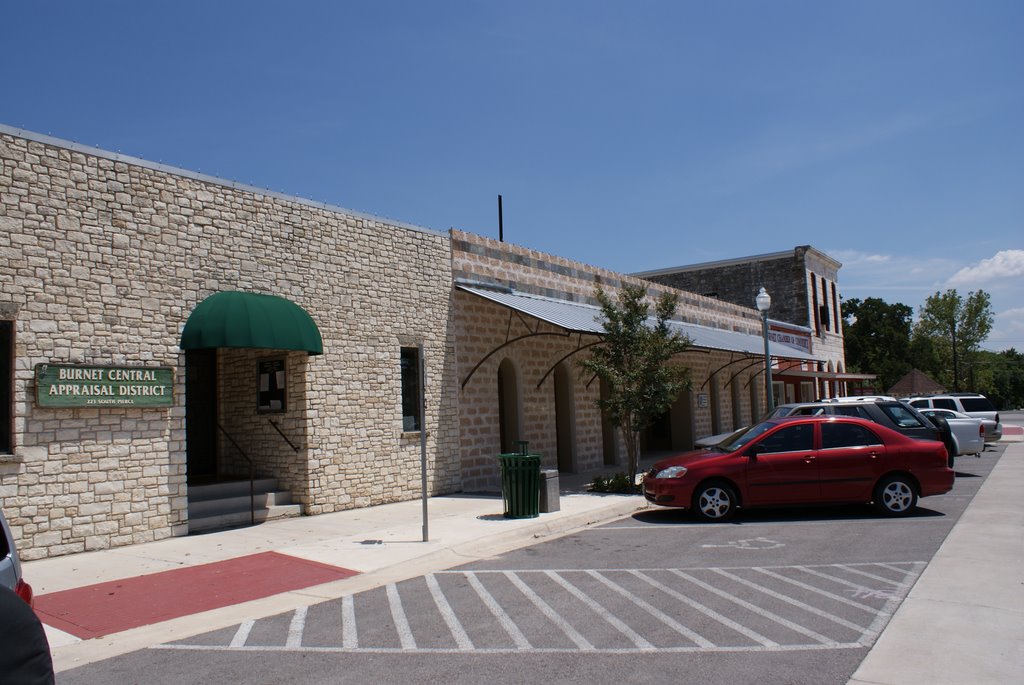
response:
[[[640,433],[668,412],[679,393],[689,388],[689,370],[670,360],[690,341],[669,328],[679,298],[666,293],[650,316],[647,291],[627,285],[617,301],[600,287],[594,293],[604,317],[603,341],[580,366],[604,382],[607,396],[597,401],[608,420],[623,432],[630,482],[640,461]]]

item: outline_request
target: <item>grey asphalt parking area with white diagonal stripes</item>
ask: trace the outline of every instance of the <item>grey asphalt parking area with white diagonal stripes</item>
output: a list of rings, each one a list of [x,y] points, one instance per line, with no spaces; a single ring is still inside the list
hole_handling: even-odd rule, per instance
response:
[[[1001,456],[914,516],[674,510],[60,674],[88,683],[846,683]]]

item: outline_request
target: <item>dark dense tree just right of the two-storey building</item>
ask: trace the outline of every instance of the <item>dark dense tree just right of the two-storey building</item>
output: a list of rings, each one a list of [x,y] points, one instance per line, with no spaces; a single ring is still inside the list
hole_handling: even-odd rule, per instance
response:
[[[879,388],[888,390],[911,369],[920,368],[911,357],[911,307],[877,297],[852,298],[843,302],[843,318],[849,371],[876,374]]]

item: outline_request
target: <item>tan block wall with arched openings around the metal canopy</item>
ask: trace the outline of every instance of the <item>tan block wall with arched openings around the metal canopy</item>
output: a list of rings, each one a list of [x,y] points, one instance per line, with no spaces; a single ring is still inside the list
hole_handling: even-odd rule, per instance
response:
[[[518,292],[594,305],[593,293],[597,285],[614,292],[630,283],[648,288],[654,295],[660,292],[658,287],[640,279],[458,230],[452,232],[452,247],[454,275],[466,282],[503,286]],[[679,296],[677,317],[682,320],[760,336],[760,318],[750,308],[692,293],[680,292]],[[529,440],[530,451],[545,455],[545,468],[556,468],[555,393],[553,374],[549,372],[573,350],[594,342],[596,336],[565,335],[558,327],[521,317],[505,307],[463,291],[456,291],[455,297],[464,487],[497,489],[500,485],[495,459],[501,451],[498,373],[505,358],[514,363],[518,374],[523,408],[521,437]],[[549,335],[505,344],[529,332]],[[500,351],[487,357],[499,347]],[[585,354],[586,351],[572,354],[564,362],[573,379],[575,445],[572,471],[602,466],[606,451],[616,456],[618,464],[623,463],[625,454],[617,431],[613,438],[614,445],[606,445],[602,437],[601,415],[596,406],[599,384],[581,374],[577,366],[577,360]],[[485,357],[485,361],[473,371]],[[725,431],[731,430],[737,421],[745,424],[753,420],[751,408],[754,398],[763,398],[762,385],[755,381],[752,389],[746,381],[757,373],[757,369],[744,370],[745,365],[738,363],[735,355],[722,351],[692,350],[684,353],[679,362],[690,368],[694,390],[686,398],[681,398],[679,411],[673,412],[675,448],[688,448],[693,439],[713,432],[716,422],[710,402],[708,406],[697,406],[694,398],[699,392],[711,392],[708,387],[701,390],[701,386],[723,366],[731,369],[730,365],[736,363],[732,371],[726,370],[724,378],[716,376],[715,379],[719,384],[715,410],[719,417],[718,424]],[[728,379],[736,373],[740,375],[738,382],[743,390],[733,395]],[[763,403],[763,399],[759,402]],[[760,414],[759,410],[757,416]]]

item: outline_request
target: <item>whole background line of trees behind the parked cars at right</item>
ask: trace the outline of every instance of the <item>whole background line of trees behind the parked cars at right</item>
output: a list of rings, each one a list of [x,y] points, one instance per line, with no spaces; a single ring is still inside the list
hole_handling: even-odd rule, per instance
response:
[[[844,301],[843,318],[847,369],[877,374],[881,392],[918,369],[949,391],[981,392],[1004,410],[1024,406],[1024,354],[981,349],[994,318],[985,291],[937,292],[916,323],[905,304],[853,298]]]

